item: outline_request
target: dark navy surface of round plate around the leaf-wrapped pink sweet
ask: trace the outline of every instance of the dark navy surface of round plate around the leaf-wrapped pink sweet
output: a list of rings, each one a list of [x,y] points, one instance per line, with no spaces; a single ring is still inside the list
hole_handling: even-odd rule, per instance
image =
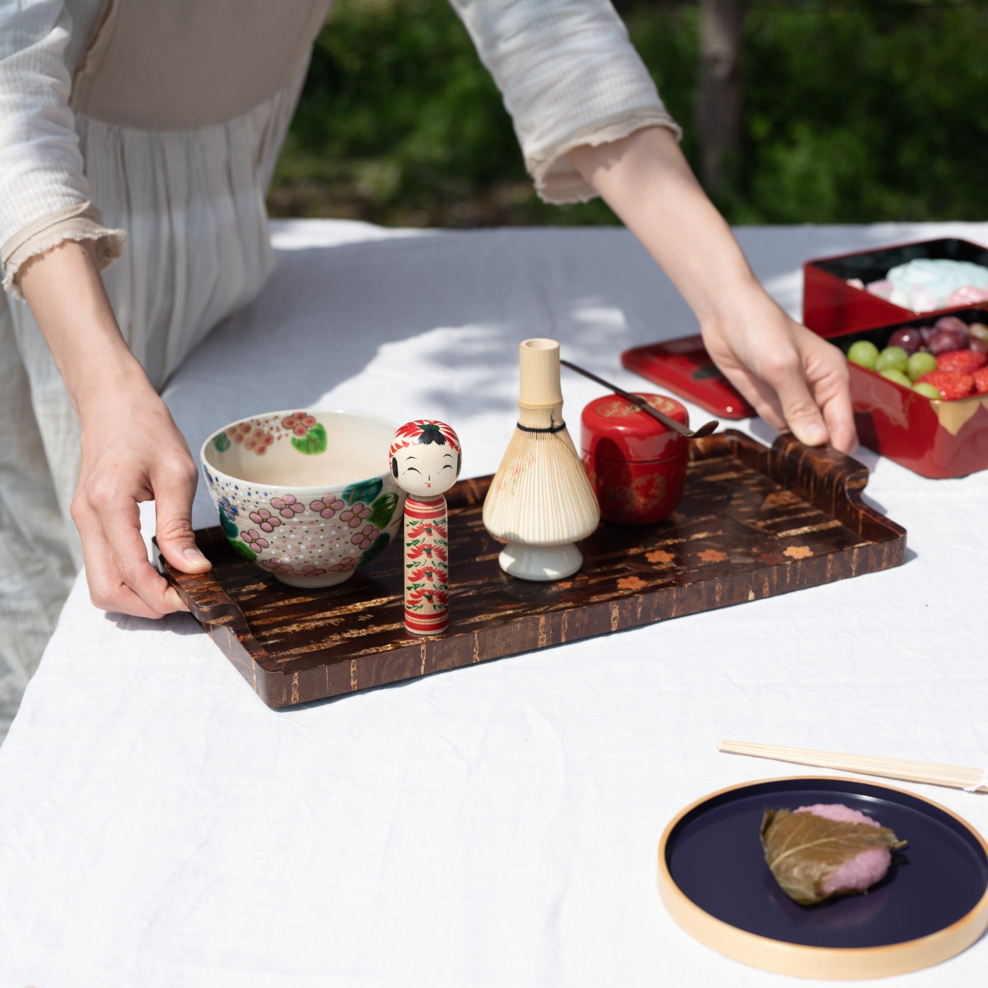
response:
[[[765,864],[767,806],[845,803],[908,845],[864,895],[798,906]],[[884,947],[936,933],[966,916],[988,888],[988,857],[969,827],[933,803],[855,780],[780,779],[711,796],[669,835],[666,864],[704,912],[740,930],[807,947]]]

